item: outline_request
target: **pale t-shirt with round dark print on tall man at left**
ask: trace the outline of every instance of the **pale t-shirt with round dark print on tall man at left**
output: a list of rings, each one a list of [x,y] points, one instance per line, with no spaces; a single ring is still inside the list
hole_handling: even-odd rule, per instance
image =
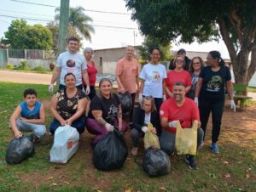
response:
[[[64,76],[73,73],[76,76],[76,86],[82,84],[82,71],[87,69],[86,61],[82,54],[70,54],[68,51],[59,55],[57,67],[61,68],[60,84],[65,85]]]

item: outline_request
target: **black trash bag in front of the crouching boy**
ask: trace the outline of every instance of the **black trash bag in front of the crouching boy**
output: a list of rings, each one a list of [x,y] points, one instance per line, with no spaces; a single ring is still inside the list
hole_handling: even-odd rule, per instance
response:
[[[32,135],[14,138],[9,142],[7,147],[5,161],[8,164],[18,164],[34,155],[34,152],[35,147]]]

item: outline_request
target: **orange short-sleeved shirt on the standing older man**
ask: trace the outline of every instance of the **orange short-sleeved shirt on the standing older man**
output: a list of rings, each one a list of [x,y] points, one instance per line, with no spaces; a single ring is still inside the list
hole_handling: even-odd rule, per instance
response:
[[[137,59],[128,60],[126,58],[119,59],[115,74],[119,76],[119,80],[122,83],[125,91],[129,93],[137,92],[137,77],[141,71],[140,65],[137,62]],[[118,92],[120,88],[118,87]]]

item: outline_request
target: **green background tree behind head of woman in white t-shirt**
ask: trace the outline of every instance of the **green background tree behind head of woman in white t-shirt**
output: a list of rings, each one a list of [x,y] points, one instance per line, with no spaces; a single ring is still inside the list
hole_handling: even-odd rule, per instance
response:
[[[142,59],[148,61],[150,59],[150,50],[152,48],[160,48],[161,61],[172,59],[172,54],[170,53],[171,43],[162,44],[157,39],[154,39],[154,37],[146,37],[143,45],[139,46],[137,49],[140,51]]]

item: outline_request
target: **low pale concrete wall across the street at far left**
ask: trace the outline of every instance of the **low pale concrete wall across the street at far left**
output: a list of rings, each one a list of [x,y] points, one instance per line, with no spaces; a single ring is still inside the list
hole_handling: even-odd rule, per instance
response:
[[[23,59],[14,59],[14,58],[8,58],[8,64],[19,66],[20,61]],[[45,60],[45,59],[26,59],[27,65],[30,68],[34,68],[37,66],[42,66],[44,69],[49,70],[49,63],[53,62],[55,63],[55,60]]]

